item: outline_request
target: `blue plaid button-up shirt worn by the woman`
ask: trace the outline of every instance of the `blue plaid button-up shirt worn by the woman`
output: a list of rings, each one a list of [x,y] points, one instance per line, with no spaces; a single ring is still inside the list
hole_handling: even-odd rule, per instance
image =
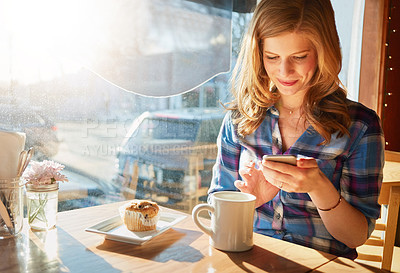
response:
[[[365,215],[370,235],[380,214],[378,195],[383,177],[384,137],[374,111],[350,100],[348,109],[350,136],[337,138],[335,133],[328,145],[318,146],[323,138],[310,127],[285,154],[315,158],[342,197]],[[278,120],[279,112],[272,106],[257,130],[241,138],[230,113],[226,115],[218,137],[218,156],[209,193],[237,190],[233,182],[241,180],[239,168],[251,159],[261,160],[265,154],[282,154]],[[352,259],[357,256],[355,249],[329,234],[316,206],[305,193],[281,190],[256,209],[254,231],[338,256]]]

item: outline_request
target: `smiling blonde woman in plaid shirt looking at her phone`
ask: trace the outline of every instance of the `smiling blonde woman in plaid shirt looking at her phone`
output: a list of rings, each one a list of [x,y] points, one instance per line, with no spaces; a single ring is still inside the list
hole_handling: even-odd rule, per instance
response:
[[[232,76],[209,193],[257,197],[255,232],[351,259],[375,226],[384,138],[346,98],[329,0],[264,0]],[[296,155],[297,166],[261,161]]]

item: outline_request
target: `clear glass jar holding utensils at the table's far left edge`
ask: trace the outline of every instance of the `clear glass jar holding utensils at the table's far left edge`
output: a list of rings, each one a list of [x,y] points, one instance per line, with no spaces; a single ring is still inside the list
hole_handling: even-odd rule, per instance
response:
[[[0,179],[0,239],[18,235],[24,220],[20,177]]]

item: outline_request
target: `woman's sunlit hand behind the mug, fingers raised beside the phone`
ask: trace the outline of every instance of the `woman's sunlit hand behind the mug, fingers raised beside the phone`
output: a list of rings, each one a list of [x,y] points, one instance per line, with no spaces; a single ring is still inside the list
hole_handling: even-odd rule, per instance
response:
[[[279,189],[268,183],[261,170],[255,167],[255,162],[250,161],[244,168],[239,170],[244,181],[235,181],[235,187],[241,192],[253,194],[256,200],[256,208],[272,200]]]

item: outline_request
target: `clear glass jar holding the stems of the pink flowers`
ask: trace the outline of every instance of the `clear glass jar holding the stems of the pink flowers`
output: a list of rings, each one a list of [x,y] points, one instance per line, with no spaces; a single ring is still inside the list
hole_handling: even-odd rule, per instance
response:
[[[26,184],[27,217],[29,226],[49,230],[56,225],[58,182],[50,185]]]

